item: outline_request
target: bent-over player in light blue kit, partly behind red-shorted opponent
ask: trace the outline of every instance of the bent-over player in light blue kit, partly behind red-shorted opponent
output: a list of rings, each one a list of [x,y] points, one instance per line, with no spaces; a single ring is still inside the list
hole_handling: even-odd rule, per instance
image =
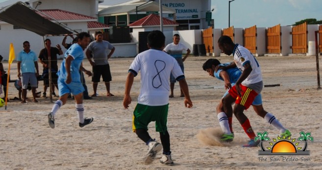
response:
[[[237,67],[229,68],[226,70],[219,69],[217,72],[215,71],[215,68],[217,66],[227,66],[230,63],[221,64],[217,59],[209,59],[207,60],[202,68],[203,70],[207,71],[208,74],[212,77],[216,77],[219,80],[224,81],[225,89],[230,89],[233,85],[235,85],[236,81],[241,76],[242,72]],[[228,90],[223,95],[226,96],[228,94]],[[276,127],[280,133],[281,136],[285,136],[286,138],[291,136],[291,133],[289,130],[284,128],[282,124],[275,118],[275,116],[272,113],[269,113],[264,110],[262,105],[262,95],[258,94],[254,101],[251,104],[260,117],[264,118],[264,120],[271,124],[273,127]],[[222,141],[231,142],[234,139],[234,135],[232,133],[232,114],[227,115],[223,111],[223,102],[222,100],[217,106],[217,116],[219,119],[219,124],[223,130],[223,136],[221,137]]]

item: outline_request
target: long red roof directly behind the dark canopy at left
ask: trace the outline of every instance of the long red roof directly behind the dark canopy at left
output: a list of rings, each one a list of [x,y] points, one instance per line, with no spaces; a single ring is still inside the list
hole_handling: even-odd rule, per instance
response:
[[[37,13],[39,15],[41,15],[42,17],[48,19],[48,20],[90,20],[90,21],[97,21],[97,18],[95,17],[90,17],[87,15],[82,15],[82,14],[77,14],[74,12],[69,12],[69,11],[64,11],[64,10],[60,10],[60,9],[42,9],[39,10],[42,13],[46,14],[47,16],[45,16],[44,14],[40,13],[37,11]],[[50,17],[50,18],[49,18]]]

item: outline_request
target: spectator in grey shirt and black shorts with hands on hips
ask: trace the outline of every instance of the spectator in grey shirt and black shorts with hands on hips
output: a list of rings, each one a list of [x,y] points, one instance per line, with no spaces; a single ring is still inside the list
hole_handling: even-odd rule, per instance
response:
[[[97,86],[100,81],[100,76],[102,76],[103,82],[106,86],[106,96],[114,96],[110,93],[110,81],[112,81],[112,75],[108,59],[111,58],[114,53],[115,47],[111,43],[103,40],[102,32],[96,32],[95,37],[96,40],[90,43],[86,50],[86,57],[93,67],[92,82],[94,93],[92,97],[97,96]],[[108,53],[108,51],[110,52]],[[91,58],[91,53],[94,61]]]

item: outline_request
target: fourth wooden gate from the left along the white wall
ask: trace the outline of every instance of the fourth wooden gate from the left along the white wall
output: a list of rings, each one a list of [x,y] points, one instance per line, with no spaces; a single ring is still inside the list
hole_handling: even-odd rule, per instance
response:
[[[281,25],[267,29],[267,52],[269,54],[281,53]]]

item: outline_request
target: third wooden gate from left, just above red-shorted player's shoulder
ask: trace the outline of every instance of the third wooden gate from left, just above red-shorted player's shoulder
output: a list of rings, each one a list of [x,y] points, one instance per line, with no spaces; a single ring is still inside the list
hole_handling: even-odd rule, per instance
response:
[[[246,28],[244,31],[244,46],[252,54],[256,54],[256,25]]]

